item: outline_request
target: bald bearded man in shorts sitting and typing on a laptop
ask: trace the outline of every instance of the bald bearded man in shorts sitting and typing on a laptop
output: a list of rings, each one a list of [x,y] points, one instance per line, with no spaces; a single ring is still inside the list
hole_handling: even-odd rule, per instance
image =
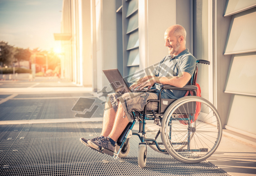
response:
[[[181,25],[173,25],[164,32],[165,46],[168,47],[169,55],[164,57],[151,75],[145,76],[133,85],[130,89],[142,90],[144,87],[154,85],[159,90],[160,84],[168,84],[176,87],[183,87],[191,79],[195,70],[196,58],[186,49],[186,30]],[[186,91],[163,91],[163,98],[178,99],[183,97]],[[100,136],[80,141],[86,146],[114,151],[115,141],[122,134],[123,130],[133,120],[132,110],[142,111],[147,100],[158,99],[158,91],[140,93],[113,93],[108,95],[108,102],[105,104],[103,115],[103,128]],[[110,104],[111,108],[107,106]],[[148,110],[157,110],[157,103],[151,102]]]

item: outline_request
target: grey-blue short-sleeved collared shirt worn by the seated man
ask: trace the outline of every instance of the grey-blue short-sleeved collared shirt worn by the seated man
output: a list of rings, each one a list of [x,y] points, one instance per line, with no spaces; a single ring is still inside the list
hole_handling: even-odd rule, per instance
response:
[[[178,76],[181,72],[188,72],[192,76],[196,69],[196,61],[197,59],[186,49],[175,57],[171,58],[170,55],[165,56],[152,74],[160,77],[170,77]],[[159,92],[160,85],[155,84],[155,87]],[[164,99],[179,99],[186,92],[180,90],[163,90],[161,97]]]

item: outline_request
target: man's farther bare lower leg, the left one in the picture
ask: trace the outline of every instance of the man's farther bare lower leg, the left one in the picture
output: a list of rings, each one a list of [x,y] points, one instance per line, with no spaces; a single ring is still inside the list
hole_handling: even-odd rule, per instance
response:
[[[109,105],[111,107],[109,107]],[[109,136],[109,134],[113,128],[114,120],[115,120],[115,111],[110,103],[109,104],[106,103],[105,111],[104,111],[104,115],[103,115],[103,127],[102,127],[102,132],[101,132],[102,136],[104,136],[104,137]]]

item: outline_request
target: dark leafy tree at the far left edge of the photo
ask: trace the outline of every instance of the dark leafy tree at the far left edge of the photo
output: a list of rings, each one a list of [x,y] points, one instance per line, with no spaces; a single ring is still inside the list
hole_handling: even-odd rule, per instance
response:
[[[0,41],[0,62],[11,65],[14,61],[15,48],[8,42]]]

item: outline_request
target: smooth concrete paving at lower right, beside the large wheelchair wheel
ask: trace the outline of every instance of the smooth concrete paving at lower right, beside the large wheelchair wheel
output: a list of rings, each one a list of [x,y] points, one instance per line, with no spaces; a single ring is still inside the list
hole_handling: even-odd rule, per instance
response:
[[[221,143],[207,160],[232,176],[256,175],[256,147],[223,132]]]

